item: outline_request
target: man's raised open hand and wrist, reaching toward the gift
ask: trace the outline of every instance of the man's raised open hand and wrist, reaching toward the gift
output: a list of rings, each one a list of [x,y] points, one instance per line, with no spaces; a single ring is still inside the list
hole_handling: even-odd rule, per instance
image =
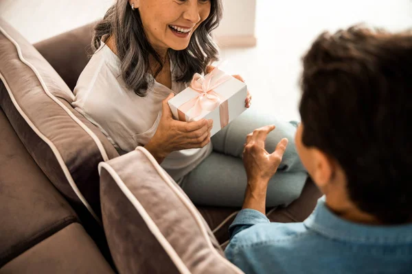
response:
[[[269,179],[275,175],[282,156],[288,145],[288,139],[283,138],[277,144],[273,153],[264,149],[264,142],[274,125],[266,125],[248,134],[243,150],[243,164],[247,173],[247,190],[243,208],[259,210],[264,214],[266,205],[266,190]]]

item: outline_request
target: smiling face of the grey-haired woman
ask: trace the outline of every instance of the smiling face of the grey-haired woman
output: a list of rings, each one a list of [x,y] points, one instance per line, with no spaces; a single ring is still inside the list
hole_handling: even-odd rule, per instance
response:
[[[140,12],[144,31],[156,50],[187,48],[196,28],[209,16],[211,0],[129,0]]]

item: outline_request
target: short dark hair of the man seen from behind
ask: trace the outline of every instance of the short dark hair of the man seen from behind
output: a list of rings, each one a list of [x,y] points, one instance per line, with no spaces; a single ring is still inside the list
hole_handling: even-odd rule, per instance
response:
[[[384,223],[411,221],[411,33],[323,33],[303,62],[304,145],[339,162],[358,208]]]

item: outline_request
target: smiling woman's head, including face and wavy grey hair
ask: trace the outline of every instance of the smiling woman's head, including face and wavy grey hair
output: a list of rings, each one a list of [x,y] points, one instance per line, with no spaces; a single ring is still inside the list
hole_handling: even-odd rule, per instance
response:
[[[170,77],[159,75],[168,58],[183,72],[176,75],[178,82],[190,81],[194,73],[217,60],[218,47],[210,34],[222,17],[220,0],[126,2],[117,1],[95,27],[93,49],[100,47],[103,36],[114,40],[108,46],[122,62],[124,83],[137,95],[146,95],[154,84],[147,73],[160,76],[170,87]]]

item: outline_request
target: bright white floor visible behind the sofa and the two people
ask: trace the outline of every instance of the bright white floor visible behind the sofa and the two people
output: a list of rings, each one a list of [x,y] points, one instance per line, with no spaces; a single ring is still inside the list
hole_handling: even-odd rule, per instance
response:
[[[37,42],[104,15],[113,0],[0,0],[0,16]],[[412,27],[409,0],[258,0],[252,49],[224,49],[225,70],[242,75],[253,94],[252,108],[279,119],[297,119],[300,58],[324,30],[355,23],[393,31]]]

